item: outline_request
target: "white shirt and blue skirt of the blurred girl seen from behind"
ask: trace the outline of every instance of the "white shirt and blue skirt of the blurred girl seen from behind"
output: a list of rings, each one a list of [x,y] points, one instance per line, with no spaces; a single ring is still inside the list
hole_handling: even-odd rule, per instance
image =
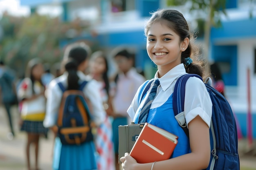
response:
[[[103,109],[102,100],[97,90],[97,84],[95,80],[84,75],[78,71],[79,83],[88,81],[83,89],[85,97],[88,97],[92,103],[92,117],[93,121],[99,126],[106,115]],[[64,73],[60,77],[53,79],[47,89],[47,107],[46,115],[43,125],[45,127],[51,127],[56,124],[58,117],[58,109],[61,103],[61,97],[63,92],[58,86],[58,82],[61,82],[64,87],[67,87],[67,73]],[[94,141],[83,143],[79,146],[76,145],[62,145],[58,137],[55,138],[54,152],[53,152],[53,169],[54,170],[96,170],[96,149]]]

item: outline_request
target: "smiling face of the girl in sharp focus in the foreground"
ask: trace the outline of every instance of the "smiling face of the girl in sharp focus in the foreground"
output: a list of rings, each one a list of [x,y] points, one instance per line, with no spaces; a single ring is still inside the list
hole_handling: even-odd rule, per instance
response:
[[[166,71],[181,63],[181,53],[184,44],[180,42],[180,36],[170,29],[167,21],[158,21],[148,29],[147,52],[150,59],[158,66],[158,69]]]

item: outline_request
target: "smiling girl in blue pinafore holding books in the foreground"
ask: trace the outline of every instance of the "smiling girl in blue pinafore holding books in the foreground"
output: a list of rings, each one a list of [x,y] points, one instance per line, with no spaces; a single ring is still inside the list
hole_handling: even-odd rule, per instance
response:
[[[189,26],[179,11],[158,10],[148,21],[145,35],[148,56],[158,66],[154,79],[159,81],[159,86],[144,120],[177,135],[179,139],[168,160],[141,164],[126,153],[120,159],[123,162],[122,167],[124,170],[205,169],[210,160],[209,126],[212,103],[204,83],[197,77],[190,77],[186,82],[184,115],[189,137],[178,125],[172,106],[174,86],[180,76],[186,73],[203,76],[200,62],[195,63],[197,51],[191,43],[193,35],[189,32]],[[140,86],[128,108],[128,114],[135,124],[142,123],[141,107],[148,94],[146,93],[141,104],[139,101],[147,82]]]

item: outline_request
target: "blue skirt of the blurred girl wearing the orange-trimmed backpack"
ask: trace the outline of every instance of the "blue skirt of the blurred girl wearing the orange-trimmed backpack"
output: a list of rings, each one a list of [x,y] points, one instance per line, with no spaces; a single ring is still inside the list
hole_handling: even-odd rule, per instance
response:
[[[86,142],[80,146],[62,145],[61,140],[56,137],[52,168],[54,170],[97,170],[94,142]]]

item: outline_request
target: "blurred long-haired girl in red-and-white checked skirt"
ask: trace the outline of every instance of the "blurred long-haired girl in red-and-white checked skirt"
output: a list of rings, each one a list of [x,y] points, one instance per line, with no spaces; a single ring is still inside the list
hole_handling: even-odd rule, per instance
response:
[[[106,110],[104,122],[97,129],[96,148],[99,153],[98,170],[115,170],[114,148],[112,142],[112,125],[110,117],[112,110],[109,103],[108,60],[102,51],[92,53],[90,75],[97,81],[100,89],[102,104]]]

